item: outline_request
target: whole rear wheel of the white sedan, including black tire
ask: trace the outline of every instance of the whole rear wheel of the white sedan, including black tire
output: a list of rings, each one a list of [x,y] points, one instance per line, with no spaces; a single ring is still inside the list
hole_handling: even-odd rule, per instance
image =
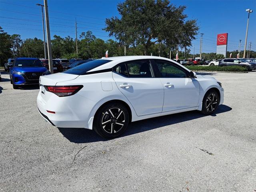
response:
[[[121,103],[108,103],[95,115],[93,129],[104,138],[120,136],[128,127],[129,112]]]

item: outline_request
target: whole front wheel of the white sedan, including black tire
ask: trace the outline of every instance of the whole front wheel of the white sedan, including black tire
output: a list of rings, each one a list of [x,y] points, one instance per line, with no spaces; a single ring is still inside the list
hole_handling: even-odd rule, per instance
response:
[[[206,92],[203,99],[202,114],[210,115],[213,114],[220,103],[220,98],[215,90],[209,90]]]

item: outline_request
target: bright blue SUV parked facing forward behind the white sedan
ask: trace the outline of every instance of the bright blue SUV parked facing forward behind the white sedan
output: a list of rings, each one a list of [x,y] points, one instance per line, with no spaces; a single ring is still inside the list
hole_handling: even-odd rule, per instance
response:
[[[50,71],[38,58],[16,58],[10,68],[10,80],[14,89],[22,85],[39,84],[39,77],[48,74]]]

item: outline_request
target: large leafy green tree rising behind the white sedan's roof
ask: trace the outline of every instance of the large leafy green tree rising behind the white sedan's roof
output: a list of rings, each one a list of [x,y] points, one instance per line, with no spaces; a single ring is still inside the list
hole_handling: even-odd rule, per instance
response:
[[[126,0],[117,6],[121,18],[107,18],[104,30],[120,44],[143,45],[144,55],[156,42],[172,48],[188,47],[198,26],[196,20],[187,19],[185,8],[169,0]]]

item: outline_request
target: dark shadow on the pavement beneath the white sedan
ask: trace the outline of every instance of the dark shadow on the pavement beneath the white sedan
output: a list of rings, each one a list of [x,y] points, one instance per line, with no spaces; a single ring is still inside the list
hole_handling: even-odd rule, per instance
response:
[[[216,110],[215,114],[212,116],[216,116],[216,114],[228,112],[232,110],[229,106],[220,105]],[[128,129],[124,134],[120,137],[128,136],[132,134],[137,134],[144,131],[149,131],[152,129],[160,128],[163,126],[168,126],[180,122],[185,122],[197,118],[204,117],[205,115],[201,114],[198,111],[189,111],[177,114],[171,114],[166,116],[160,116],[155,118],[150,118],[146,120],[140,120],[136,122],[132,122]],[[70,142],[74,143],[90,143],[90,142],[98,142],[98,141],[107,141],[108,139],[104,139],[98,134],[96,134],[93,130],[88,130],[84,128],[58,128],[60,133],[67,138]]]

